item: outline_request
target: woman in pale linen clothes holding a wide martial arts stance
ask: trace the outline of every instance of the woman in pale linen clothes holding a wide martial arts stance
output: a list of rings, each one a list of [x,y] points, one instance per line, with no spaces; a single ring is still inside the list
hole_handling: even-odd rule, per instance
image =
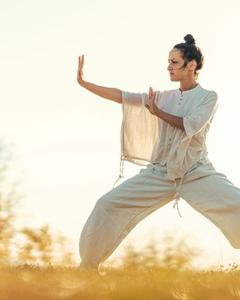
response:
[[[148,94],[129,93],[88,83],[83,78],[84,56],[79,57],[78,83],[122,104],[119,178],[121,161],[147,165],[96,202],[79,241],[81,269],[99,269],[128,233],[158,208],[174,199],[173,208],[178,208],[180,190],[189,205],[240,249],[240,188],[215,170],[205,145],[217,93],[197,83],[202,51],[191,34],[184,40],[169,52],[167,68],[180,88],[163,92],[150,87]]]

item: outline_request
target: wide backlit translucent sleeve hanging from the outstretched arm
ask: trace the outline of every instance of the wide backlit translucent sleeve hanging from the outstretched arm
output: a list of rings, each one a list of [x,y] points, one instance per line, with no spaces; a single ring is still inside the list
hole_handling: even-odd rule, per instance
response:
[[[160,91],[156,94],[158,102]],[[122,91],[123,122],[121,127],[121,158],[138,165],[151,161],[158,137],[158,118],[145,107],[148,93]]]

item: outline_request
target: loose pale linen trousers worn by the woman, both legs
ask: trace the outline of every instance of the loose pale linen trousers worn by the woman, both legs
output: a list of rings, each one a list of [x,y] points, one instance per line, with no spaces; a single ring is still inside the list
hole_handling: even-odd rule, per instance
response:
[[[177,185],[180,180],[176,179]],[[79,268],[99,269],[141,220],[174,200],[175,192],[167,165],[149,163],[100,197],[81,232]],[[233,248],[240,249],[240,188],[217,172],[208,158],[187,171],[181,197],[217,226]]]

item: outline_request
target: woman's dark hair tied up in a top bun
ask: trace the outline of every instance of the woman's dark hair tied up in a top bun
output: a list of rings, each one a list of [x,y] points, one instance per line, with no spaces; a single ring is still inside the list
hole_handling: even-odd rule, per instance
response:
[[[187,34],[183,38],[186,42],[176,44],[173,48],[180,50],[181,56],[184,60],[183,69],[186,68],[187,63],[195,60],[197,67],[195,69],[195,79],[197,79],[199,70],[202,69],[204,64],[204,57],[201,48],[196,46],[196,42],[192,34]]]

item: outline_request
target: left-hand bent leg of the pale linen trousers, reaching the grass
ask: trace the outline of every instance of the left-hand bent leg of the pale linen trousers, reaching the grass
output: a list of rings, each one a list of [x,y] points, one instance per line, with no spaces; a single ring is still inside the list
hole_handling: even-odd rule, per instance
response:
[[[99,268],[145,217],[174,199],[166,166],[147,168],[100,197],[79,240],[79,268]]]

